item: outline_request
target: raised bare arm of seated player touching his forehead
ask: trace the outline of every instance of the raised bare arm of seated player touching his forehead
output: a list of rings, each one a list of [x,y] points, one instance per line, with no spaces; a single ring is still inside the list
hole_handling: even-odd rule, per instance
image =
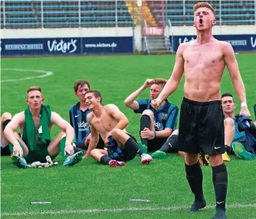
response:
[[[128,106],[130,109],[139,109],[139,103],[136,101],[136,98],[139,96],[140,93],[143,92],[147,87],[150,87],[152,85],[153,79],[147,79],[145,83],[143,83],[142,87],[139,87],[138,90],[134,91],[130,96],[124,100],[124,104]]]

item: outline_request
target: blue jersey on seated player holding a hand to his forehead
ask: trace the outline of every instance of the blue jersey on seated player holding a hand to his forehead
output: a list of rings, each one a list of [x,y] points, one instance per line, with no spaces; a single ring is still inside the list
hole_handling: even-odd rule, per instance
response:
[[[168,100],[159,107],[154,109],[150,103],[151,100],[139,100],[139,109],[133,110],[134,113],[143,113],[145,109],[150,109],[154,115],[154,126],[156,131],[162,131],[166,128],[176,129],[179,109],[178,106],[169,103]]]

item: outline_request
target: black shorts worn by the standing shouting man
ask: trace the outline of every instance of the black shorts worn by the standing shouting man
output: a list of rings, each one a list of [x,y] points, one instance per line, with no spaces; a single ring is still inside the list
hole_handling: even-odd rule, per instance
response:
[[[220,100],[196,102],[183,98],[179,117],[179,151],[223,154],[224,120]]]

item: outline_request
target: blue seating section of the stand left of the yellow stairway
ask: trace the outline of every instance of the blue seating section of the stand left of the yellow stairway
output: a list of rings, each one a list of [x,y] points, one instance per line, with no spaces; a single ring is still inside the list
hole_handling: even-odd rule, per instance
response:
[[[132,26],[124,1],[1,1],[2,28]]]

